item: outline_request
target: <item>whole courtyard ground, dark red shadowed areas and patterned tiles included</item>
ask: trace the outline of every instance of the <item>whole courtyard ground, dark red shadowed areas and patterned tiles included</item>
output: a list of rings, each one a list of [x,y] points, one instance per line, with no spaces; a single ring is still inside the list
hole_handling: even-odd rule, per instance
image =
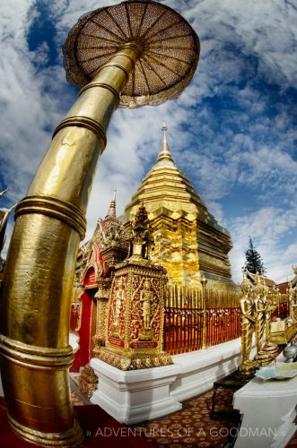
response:
[[[118,423],[99,406],[91,404],[73,380],[71,387],[74,413],[85,435],[83,447],[231,448],[239,431],[240,415],[232,409],[232,391],[218,392],[216,418],[210,417],[213,401],[213,390],[210,390],[184,401],[183,409],[169,416],[127,426]],[[1,398],[0,446],[5,448],[33,446],[13,434],[5,418],[5,412],[5,401]],[[297,434],[287,445],[287,448],[293,447],[297,447]]]

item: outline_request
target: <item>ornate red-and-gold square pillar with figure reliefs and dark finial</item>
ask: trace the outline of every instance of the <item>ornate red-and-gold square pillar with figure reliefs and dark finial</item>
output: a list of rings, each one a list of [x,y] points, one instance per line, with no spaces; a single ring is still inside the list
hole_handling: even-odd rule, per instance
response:
[[[162,351],[166,271],[149,260],[150,240],[147,214],[140,207],[130,254],[117,265],[110,289],[106,344],[97,353],[98,358],[121,370],[172,363]]]

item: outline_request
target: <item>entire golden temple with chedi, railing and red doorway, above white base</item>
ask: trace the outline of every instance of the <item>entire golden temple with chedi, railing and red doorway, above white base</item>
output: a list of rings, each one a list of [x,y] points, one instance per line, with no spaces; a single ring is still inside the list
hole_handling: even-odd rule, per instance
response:
[[[160,366],[170,363],[170,353],[239,336],[230,235],[175,164],[165,123],[162,131],[156,164],[124,215],[117,217],[114,194],[107,216],[80,248],[72,308],[72,331],[79,338],[74,372],[92,357],[123,370]],[[212,327],[207,341],[206,325]],[[86,372],[80,376],[85,390]]]

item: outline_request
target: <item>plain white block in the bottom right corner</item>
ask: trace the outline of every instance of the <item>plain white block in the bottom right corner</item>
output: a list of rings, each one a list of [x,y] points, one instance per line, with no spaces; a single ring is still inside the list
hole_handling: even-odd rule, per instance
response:
[[[283,448],[293,437],[297,377],[283,381],[253,378],[235,392],[234,409],[243,414],[235,448]]]

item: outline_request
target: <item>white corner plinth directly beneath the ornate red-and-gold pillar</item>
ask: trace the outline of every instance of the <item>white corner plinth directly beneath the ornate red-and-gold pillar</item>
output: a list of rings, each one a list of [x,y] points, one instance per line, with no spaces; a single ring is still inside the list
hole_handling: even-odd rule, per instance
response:
[[[179,375],[179,366],[123,372],[100,359],[93,358],[90,364],[99,378],[92,403],[100,405],[121,423],[158,418],[182,407],[170,397],[170,384]]]

